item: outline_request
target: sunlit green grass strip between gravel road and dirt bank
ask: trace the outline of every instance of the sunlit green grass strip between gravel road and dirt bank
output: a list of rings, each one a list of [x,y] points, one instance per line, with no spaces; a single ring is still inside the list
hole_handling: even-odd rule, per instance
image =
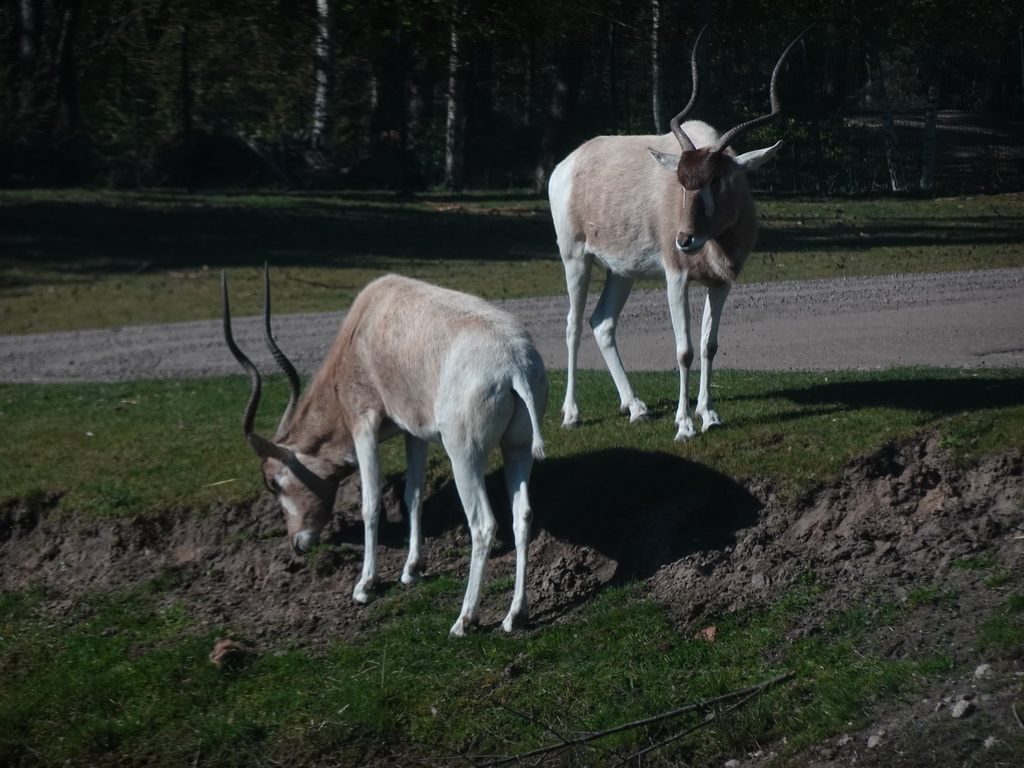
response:
[[[552,402],[564,372],[551,373]],[[1024,375],[1020,371],[961,372],[901,369],[878,373],[765,374],[724,370],[716,406],[727,427],[688,443],[673,442],[678,380],[673,373],[641,373],[635,386],[651,419],[630,424],[618,414],[605,372],[581,374],[584,426],[558,427],[556,406],[544,430],[549,459],[535,470],[556,477],[575,465],[650,461],[664,472],[624,493],[655,500],[678,487],[680,475],[711,482],[770,477],[794,497],[831,477],[851,458],[929,426],[969,461],[1024,443]],[[168,507],[204,510],[237,504],[262,488],[257,460],[239,427],[248,397],[245,376],[120,384],[0,385],[0,504],[52,500],[58,510],[135,515]],[[984,407],[974,394],[989,394]],[[268,377],[257,430],[272,432],[287,387]],[[842,435],[837,440],[837,434]],[[403,471],[400,440],[385,444],[385,473]],[[497,456],[495,467],[497,467]],[[431,477],[446,476],[447,460],[434,447]],[[622,471],[621,466],[617,471]],[[660,479],[657,479],[660,478]],[[436,484],[433,483],[433,484]],[[593,500],[613,508],[614,490],[601,485]],[[169,501],[172,500],[172,501]],[[642,501],[640,499],[639,501]],[[639,503],[634,499],[633,503]]]

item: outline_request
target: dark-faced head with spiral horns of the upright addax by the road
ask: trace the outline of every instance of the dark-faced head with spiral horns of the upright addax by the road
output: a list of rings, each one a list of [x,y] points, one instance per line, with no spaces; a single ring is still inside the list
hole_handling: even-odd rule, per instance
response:
[[[676,248],[683,253],[699,251],[709,240],[714,240],[734,223],[738,215],[738,208],[734,205],[731,197],[736,177],[748,171],[753,171],[771,160],[775,157],[779,146],[782,145],[781,141],[777,141],[771,146],[754,150],[738,156],[726,152],[739,136],[775,120],[781,113],[781,106],[775,92],[775,82],[786,55],[804,36],[804,33],[801,33],[796,40],[786,46],[772,71],[769,96],[771,113],[740,123],[723,133],[712,146],[698,148],[683,130],[682,121],[689,115],[696,102],[699,83],[697,49],[706,29],[707,27],[701,29],[700,34],[697,35],[690,56],[690,71],[693,78],[690,100],[683,111],[670,122],[672,132],[679,141],[682,152],[680,155],[671,155],[649,150],[658,165],[676,174],[683,189],[679,233],[676,238]]]

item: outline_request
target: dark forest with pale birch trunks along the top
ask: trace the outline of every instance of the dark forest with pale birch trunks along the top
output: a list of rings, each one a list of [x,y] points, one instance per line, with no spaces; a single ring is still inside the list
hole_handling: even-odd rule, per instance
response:
[[[0,0],[0,186],[534,188],[768,111],[762,189],[1024,187],[1024,9],[962,0]]]

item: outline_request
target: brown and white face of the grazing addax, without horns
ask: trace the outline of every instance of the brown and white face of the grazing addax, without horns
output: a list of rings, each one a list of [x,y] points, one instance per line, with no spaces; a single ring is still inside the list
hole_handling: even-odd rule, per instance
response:
[[[315,457],[291,454],[263,459],[263,482],[281,503],[292,548],[305,554],[319,543],[331,519],[338,483],[351,473]]]

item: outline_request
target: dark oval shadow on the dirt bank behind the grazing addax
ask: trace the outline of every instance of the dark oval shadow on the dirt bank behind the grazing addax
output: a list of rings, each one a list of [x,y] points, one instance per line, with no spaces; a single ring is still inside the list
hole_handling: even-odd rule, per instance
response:
[[[498,522],[494,554],[500,555],[514,548],[501,469],[487,475],[486,487]],[[529,497],[531,539],[547,534],[613,560],[613,584],[645,579],[694,552],[729,547],[763,507],[742,485],[701,464],[632,449],[539,461]],[[400,523],[389,527],[396,536],[408,535],[407,524],[402,510]],[[436,537],[464,524],[458,492],[449,480],[424,503],[424,534]]]

